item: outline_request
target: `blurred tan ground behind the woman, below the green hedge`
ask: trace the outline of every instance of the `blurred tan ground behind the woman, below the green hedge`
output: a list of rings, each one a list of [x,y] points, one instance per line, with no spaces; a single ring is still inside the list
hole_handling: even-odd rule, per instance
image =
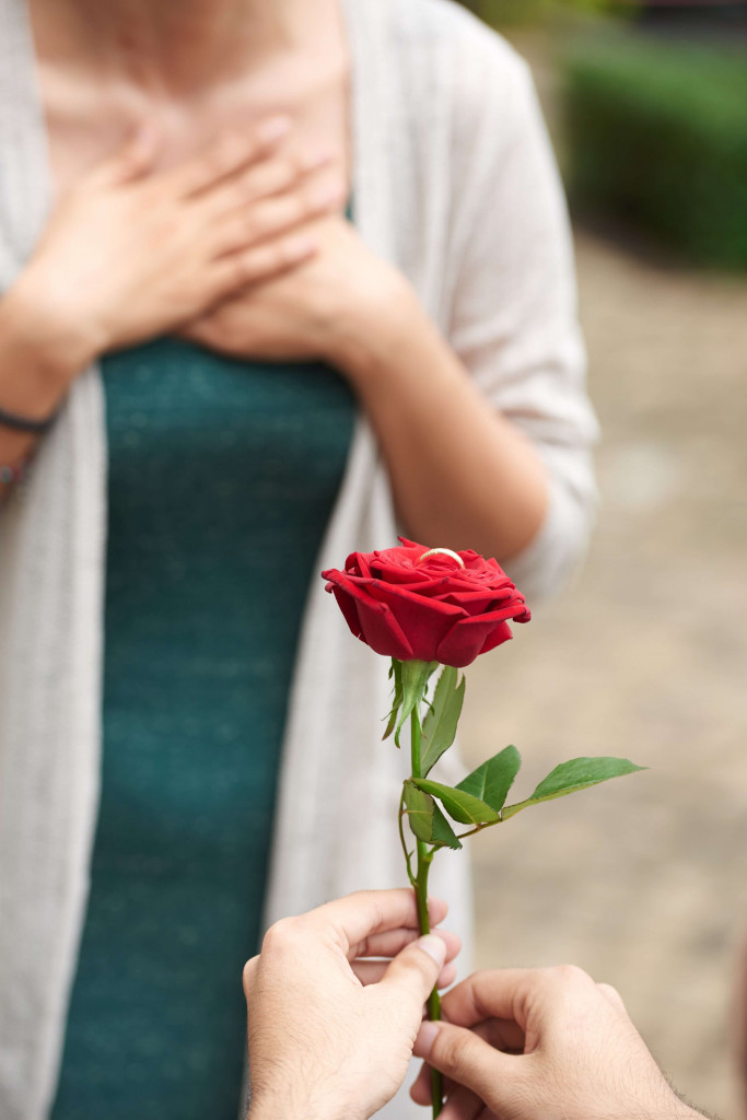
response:
[[[476,765],[515,743],[526,793],[578,755],[651,769],[473,841],[478,963],[575,962],[614,983],[675,1085],[735,1117],[747,279],[653,264],[588,233],[577,248],[605,433],[598,530],[570,591],[467,671],[463,746]]]

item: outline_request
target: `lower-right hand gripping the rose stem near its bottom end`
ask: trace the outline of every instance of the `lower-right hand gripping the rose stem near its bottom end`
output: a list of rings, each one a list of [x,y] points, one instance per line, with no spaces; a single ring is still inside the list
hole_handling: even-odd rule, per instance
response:
[[[424,1023],[415,1054],[440,1070],[442,1120],[692,1120],[614,988],[580,969],[478,972]],[[430,1101],[428,1066],[412,1088]]]

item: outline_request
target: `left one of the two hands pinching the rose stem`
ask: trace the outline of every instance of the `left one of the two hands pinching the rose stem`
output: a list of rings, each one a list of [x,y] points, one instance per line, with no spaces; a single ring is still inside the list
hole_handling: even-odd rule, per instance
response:
[[[430,902],[431,923],[446,913]],[[361,892],[273,925],[244,969],[250,1120],[372,1116],[402,1084],[423,1004],[437,981],[454,981],[447,962],[458,951],[456,934],[418,936],[405,889]]]

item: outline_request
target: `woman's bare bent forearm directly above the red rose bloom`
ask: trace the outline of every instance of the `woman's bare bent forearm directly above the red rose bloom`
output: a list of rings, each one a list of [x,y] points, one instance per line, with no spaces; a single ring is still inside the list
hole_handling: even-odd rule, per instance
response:
[[[407,531],[510,559],[544,520],[536,451],[491,409],[409,288],[379,319],[348,318],[338,364],[376,432]]]

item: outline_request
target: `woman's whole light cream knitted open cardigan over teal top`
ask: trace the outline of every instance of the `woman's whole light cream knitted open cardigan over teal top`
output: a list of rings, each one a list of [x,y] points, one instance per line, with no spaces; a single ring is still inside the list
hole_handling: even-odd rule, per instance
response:
[[[547,465],[545,522],[510,569],[532,603],[583,551],[596,427],[564,202],[531,81],[503,40],[448,0],[345,3],[356,225],[409,277],[486,400]],[[0,291],[44,227],[49,180],[25,0],[0,0]],[[3,1120],[48,1116],[86,905],[101,746],[103,409],[92,367],[0,512]],[[394,538],[385,469],[361,417],[317,567]],[[395,813],[407,752],[381,743],[386,709],[386,664],[354,642],[315,579],[290,697],[268,922],[402,883]],[[445,765],[446,781],[455,765]],[[466,858],[437,864],[433,889],[464,927]]]

